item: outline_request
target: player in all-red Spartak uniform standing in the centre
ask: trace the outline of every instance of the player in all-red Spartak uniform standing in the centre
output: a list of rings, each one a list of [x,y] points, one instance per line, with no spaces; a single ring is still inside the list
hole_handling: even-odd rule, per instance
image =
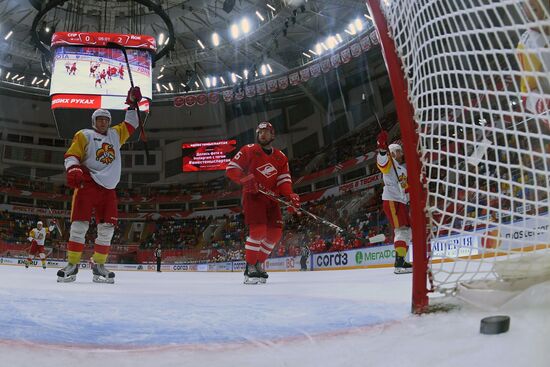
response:
[[[245,244],[245,284],[265,283],[268,275],[264,262],[283,234],[283,220],[278,202],[259,192],[282,195],[294,208],[300,197],[292,190],[288,158],[272,147],[275,130],[269,122],[256,128],[257,144],[241,148],[228,164],[226,175],[242,185],[242,206],[249,236]]]

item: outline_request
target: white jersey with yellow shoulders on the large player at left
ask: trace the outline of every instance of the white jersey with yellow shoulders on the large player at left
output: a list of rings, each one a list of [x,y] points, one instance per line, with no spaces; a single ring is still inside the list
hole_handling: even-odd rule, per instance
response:
[[[106,134],[92,129],[78,131],[65,153],[65,169],[80,164],[92,179],[106,189],[114,189],[120,181],[122,157],[120,147],[138,126],[137,112],[127,111],[124,122],[110,127]]]

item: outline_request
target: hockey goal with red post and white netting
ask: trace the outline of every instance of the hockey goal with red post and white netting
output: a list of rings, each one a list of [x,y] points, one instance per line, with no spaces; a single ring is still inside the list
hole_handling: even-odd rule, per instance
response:
[[[411,186],[413,309],[550,279],[550,2],[367,5]]]

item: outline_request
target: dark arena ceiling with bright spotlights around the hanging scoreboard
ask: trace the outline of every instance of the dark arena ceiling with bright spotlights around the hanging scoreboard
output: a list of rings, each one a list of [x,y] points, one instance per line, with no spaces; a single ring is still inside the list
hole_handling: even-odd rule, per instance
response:
[[[47,95],[43,52],[33,42],[31,30],[39,10],[53,1],[0,0],[0,88]],[[38,23],[37,31],[45,44],[54,31],[147,34],[157,42],[162,41],[161,34],[164,42],[169,35],[166,22],[138,1],[57,2],[60,5]],[[175,36],[173,44],[170,40],[166,43],[169,52],[156,62],[153,81],[173,83],[175,93],[185,86],[204,89],[205,79],[210,76],[221,76],[231,83],[231,73],[242,75],[244,69],[261,73],[261,65],[269,65],[271,71],[264,68],[267,74],[284,73],[315,59],[311,50],[319,42],[326,44],[328,37],[335,35],[339,35],[339,42],[347,42],[357,36],[350,32],[350,24],[357,19],[365,26],[368,22],[365,3],[358,0],[235,0],[229,12],[228,0],[152,2],[168,15]],[[243,35],[244,18],[249,21],[250,31]],[[233,24],[240,29],[237,38],[231,36]],[[219,35],[218,46],[212,42],[213,33]],[[10,78],[6,79],[8,72]],[[13,79],[15,75],[18,77]],[[44,83],[36,86],[42,79]]]

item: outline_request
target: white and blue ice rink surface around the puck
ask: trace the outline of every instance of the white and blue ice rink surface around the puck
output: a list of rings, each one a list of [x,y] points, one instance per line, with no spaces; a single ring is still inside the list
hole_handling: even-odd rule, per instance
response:
[[[57,269],[0,266],[0,366],[550,366],[550,282],[489,311],[410,314],[393,269],[117,272],[56,283]],[[510,331],[479,333],[505,314]]]

